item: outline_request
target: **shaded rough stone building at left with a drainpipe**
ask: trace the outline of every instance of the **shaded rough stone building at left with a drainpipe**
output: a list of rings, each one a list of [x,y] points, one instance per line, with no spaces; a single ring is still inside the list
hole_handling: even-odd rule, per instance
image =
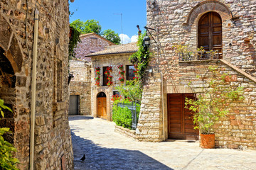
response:
[[[9,0],[0,6],[0,98],[13,111],[5,111],[0,120],[1,127],[12,131],[5,138],[17,149],[20,169],[32,169],[31,165],[34,169],[73,169],[68,125],[68,1]],[[32,67],[35,52],[37,65]],[[37,72],[35,102],[31,100],[32,69]],[[32,106],[36,106],[34,133]]]

